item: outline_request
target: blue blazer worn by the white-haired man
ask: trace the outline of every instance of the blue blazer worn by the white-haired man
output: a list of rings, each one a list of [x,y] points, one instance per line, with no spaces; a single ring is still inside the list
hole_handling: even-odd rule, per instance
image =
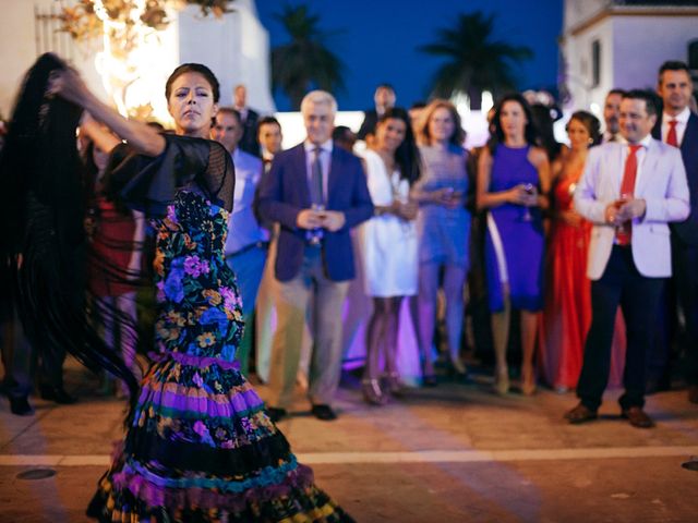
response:
[[[281,226],[275,265],[279,281],[291,280],[301,268],[306,231],[296,226],[296,219],[301,210],[310,207],[305,149],[300,144],[274,157],[257,196],[260,216]],[[361,161],[337,146],[332,151],[327,209],[344,212],[346,223],[337,232],[325,231],[325,273],[334,281],[350,280],[354,277],[354,265],[349,231],[373,215],[373,204]]]

